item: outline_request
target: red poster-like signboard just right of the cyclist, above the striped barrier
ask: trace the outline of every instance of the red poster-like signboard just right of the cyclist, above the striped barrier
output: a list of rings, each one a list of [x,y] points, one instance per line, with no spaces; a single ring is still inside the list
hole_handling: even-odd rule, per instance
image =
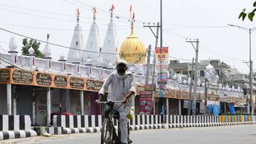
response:
[[[141,91],[139,96],[139,114],[152,114],[152,91]]]

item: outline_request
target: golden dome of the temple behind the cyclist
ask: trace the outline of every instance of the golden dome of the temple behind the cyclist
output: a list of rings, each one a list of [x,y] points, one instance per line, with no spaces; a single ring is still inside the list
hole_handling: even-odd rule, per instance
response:
[[[126,60],[129,64],[144,64],[146,57],[146,48],[139,40],[137,35],[134,35],[132,28],[131,34],[129,35],[119,50],[119,57]]]

